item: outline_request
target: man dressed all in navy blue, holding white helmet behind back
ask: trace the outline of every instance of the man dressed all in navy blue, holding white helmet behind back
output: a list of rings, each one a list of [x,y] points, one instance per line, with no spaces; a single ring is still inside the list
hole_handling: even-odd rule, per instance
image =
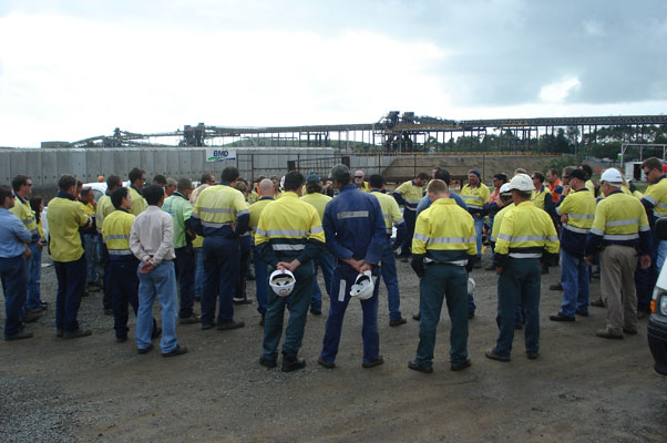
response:
[[[327,319],[322,351],[318,363],[325,368],[336,367],[342,318],[350,301],[350,289],[359,274],[372,271],[373,295],[361,300],[363,311],[363,368],[382,364],[380,336],[378,333],[378,276],[382,245],[387,240],[384,217],[378,198],[357,189],[351,183],[350,169],[336,165],[331,177],[340,194],[325,208],[322,226],[327,248],[338,260],[331,286],[331,305]],[[421,182],[420,182],[421,183]]]

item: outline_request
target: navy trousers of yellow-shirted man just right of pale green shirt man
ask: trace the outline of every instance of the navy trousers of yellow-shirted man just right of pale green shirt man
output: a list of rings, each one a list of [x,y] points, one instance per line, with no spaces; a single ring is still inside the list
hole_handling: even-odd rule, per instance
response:
[[[215,305],[219,300],[217,323],[234,320],[234,291],[240,251],[238,239],[204,238],[204,293],[202,295],[202,324],[213,323]]]

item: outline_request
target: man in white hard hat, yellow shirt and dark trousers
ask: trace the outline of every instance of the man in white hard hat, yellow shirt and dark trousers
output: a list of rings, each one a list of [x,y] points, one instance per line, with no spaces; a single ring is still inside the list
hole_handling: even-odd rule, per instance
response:
[[[510,361],[514,339],[514,316],[519,302],[525,311],[525,347],[529,359],[540,353],[540,287],[541,259],[558,259],[558,236],[544,210],[531,203],[535,188],[526,174],[517,174],[510,182],[514,207],[503,216],[495,256],[497,279],[497,310],[500,336],[495,348],[486,351],[492,360]]]

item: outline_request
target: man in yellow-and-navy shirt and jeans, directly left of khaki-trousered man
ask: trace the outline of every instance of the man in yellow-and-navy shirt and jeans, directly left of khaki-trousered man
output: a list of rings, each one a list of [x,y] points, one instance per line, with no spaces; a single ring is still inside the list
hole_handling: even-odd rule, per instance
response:
[[[561,282],[563,303],[558,313],[550,316],[552,321],[574,321],[575,313],[588,317],[589,268],[584,261],[586,237],[593,226],[596,203],[586,189],[586,173],[572,169],[563,199],[556,206],[561,217]]]

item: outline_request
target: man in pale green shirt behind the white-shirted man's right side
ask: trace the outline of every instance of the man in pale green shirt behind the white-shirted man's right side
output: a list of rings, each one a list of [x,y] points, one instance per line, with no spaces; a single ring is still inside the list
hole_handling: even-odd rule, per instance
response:
[[[167,178],[167,188],[170,186]],[[181,309],[178,310],[178,324],[192,324],[199,322],[199,316],[193,311],[195,305],[195,251],[192,246],[194,233],[188,230],[193,206],[189,203],[192,194],[192,182],[189,178],[181,178],[176,190],[172,192],[162,210],[172,216],[174,220],[174,251],[176,253],[175,270],[181,287]],[[168,195],[165,193],[165,195]]]

